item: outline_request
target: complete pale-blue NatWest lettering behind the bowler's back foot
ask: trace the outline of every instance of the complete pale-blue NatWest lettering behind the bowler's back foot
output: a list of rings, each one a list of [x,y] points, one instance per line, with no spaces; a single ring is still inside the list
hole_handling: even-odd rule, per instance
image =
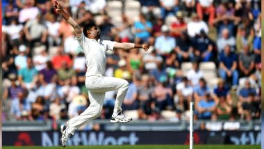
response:
[[[59,146],[60,135],[58,132],[53,132],[50,137],[47,132],[42,132],[42,146]],[[121,145],[130,144],[135,145],[139,141],[138,136],[134,132],[131,132],[129,136],[105,136],[104,132],[75,132],[69,141],[67,141],[68,146],[79,146],[79,145]]]

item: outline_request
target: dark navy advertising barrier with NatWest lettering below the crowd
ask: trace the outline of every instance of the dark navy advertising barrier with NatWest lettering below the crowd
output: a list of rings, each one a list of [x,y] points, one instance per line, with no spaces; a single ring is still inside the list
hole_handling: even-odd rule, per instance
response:
[[[194,132],[195,144],[261,144],[261,132]],[[70,146],[188,144],[189,132],[75,132]],[[3,132],[3,146],[60,146],[60,132]]]

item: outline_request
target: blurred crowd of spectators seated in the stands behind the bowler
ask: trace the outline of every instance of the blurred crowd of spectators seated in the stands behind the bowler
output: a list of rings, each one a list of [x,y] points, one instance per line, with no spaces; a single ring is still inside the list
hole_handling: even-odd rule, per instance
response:
[[[138,120],[253,120],[261,114],[261,1],[60,0],[101,39],[149,43],[107,54],[106,76],[129,81]],[[2,1],[2,120],[67,120],[89,106],[85,57],[47,0]],[[113,113],[106,93],[99,119]]]

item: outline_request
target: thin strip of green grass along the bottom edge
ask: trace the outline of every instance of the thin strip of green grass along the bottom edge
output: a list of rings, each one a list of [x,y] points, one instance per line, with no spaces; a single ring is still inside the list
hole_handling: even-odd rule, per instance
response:
[[[56,147],[42,147],[42,146],[24,146],[24,147],[14,147],[14,146],[3,146],[3,149],[62,149],[62,146]],[[84,148],[94,148],[94,149],[189,149],[188,145],[135,145],[135,146],[67,146],[64,149],[84,149]],[[217,149],[261,149],[261,145],[259,146],[236,146],[236,145],[195,145],[194,149],[206,149],[206,148],[217,148]]]

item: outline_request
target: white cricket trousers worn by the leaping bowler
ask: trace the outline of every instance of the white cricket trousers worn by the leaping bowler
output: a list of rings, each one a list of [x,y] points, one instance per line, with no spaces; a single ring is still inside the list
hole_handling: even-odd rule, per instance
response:
[[[81,125],[98,118],[104,105],[104,97],[107,91],[117,91],[115,100],[114,113],[122,111],[122,102],[126,97],[129,88],[129,82],[124,79],[115,77],[103,77],[102,75],[94,75],[86,77],[85,86],[89,91],[90,106],[79,116],[71,118],[67,121],[69,133],[74,134]]]

